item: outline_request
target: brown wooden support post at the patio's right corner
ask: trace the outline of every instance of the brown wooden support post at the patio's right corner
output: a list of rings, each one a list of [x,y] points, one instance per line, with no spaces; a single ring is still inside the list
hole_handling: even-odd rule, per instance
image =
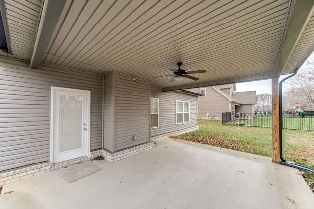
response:
[[[272,78],[272,159],[273,163],[279,163],[279,78]]]

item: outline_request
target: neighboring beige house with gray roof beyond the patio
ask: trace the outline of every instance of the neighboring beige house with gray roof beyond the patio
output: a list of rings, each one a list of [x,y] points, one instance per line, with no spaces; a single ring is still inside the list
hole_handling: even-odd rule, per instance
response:
[[[255,112],[256,91],[235,93],[235,84],[195,88],[190,91],[203,94],[197,100],[199,119],[221,119],[224,112]]]

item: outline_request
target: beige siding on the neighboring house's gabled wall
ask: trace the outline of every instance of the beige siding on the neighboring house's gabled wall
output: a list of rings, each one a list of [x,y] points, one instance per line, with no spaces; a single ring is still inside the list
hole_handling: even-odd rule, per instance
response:
[[[199,88],[193,89],[193,92],[199,92]],[[206,87],[206,97],[198,97],[198,118],[207,118],[210,116],[221,118],[223,112],[230,111],[230,102],[225,96],[217,92],[213,87]]]

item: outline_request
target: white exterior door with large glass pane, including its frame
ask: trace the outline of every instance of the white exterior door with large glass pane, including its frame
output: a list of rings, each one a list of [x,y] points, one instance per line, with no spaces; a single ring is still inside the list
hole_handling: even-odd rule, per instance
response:
[[[50,161],[89,157],[90,91],[51,87]]]

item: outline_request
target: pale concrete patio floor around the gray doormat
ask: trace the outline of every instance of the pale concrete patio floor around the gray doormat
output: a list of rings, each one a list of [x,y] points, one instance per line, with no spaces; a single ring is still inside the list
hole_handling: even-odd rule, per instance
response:
[[[314,195],[299,170],[209,145],[166,139],[115,163],[93,164],[102,170],[73,183],[52,171],[5,185],[0,208],[314,208]]]

